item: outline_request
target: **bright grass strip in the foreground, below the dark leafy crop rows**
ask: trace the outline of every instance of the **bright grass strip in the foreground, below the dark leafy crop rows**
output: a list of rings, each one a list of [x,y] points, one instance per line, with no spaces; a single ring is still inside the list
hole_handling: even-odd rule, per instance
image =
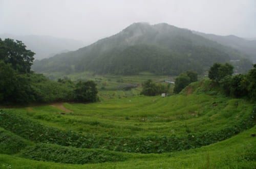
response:
[[[99,164],[60,164],[41,162],[0,154],[2,168],[255,168],[256,141],[251,137],[256,127],[232,138],[202,147],[165,154],[132,154],[123,162]],[[124,153],[125,154],[125,153]],[[253,157],[254,156],[254,157]]]

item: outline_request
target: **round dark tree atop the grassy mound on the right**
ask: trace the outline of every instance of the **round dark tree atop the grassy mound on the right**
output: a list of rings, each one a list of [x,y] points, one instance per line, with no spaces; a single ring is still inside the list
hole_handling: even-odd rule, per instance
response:
[[[233,74],[233,66],[225,63],[225,65],[221,64],[221,63],[214,63],[214,65],[212,65],[209,69],[208,72],[208,77],[211,80],[215,80],[217,82],[219,82],[220,80],[222,80],[225,76],[227,75],[232,75]]]

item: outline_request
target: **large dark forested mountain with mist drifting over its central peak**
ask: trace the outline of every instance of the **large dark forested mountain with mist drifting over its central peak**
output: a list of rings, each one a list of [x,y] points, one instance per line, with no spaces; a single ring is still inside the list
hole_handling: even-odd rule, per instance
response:
[[[186,70],[207,71],[215,62],[236,62],[241,71],[251,68],[249,60],[230,47],[193,32],[160,23],[134,23],[120,33],[76,51],[34,62],[36,72],[82,72],[178,75]]]

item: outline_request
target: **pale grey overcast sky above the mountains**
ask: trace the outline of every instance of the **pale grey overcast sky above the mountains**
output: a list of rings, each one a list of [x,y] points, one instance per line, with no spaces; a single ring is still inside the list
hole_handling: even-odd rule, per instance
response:
[[[134,22],[256,38],[256,0],[0,0],[0,34],[92,43]]]

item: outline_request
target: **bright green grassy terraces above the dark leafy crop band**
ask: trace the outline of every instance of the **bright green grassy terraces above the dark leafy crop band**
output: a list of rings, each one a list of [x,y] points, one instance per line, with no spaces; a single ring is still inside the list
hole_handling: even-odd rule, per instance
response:
[[[218,131],[248,117],[253,105],[243,99],[209,95],[161,98],[136,96],[92,104],[68,104],[73,112],[53,106],[14,109],[33,121],[84,134],[136,137]]]

